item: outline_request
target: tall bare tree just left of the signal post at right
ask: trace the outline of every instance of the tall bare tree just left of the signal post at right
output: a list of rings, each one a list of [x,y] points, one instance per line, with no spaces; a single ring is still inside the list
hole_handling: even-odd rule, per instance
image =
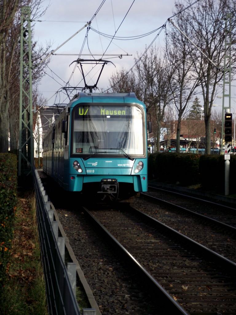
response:
[[[187,5],[190,1],[184,2]],[[183,9],[182,3],[177,3],[178,10]],[[196,5],[190,6],[178,15],[179,25],[188,21],[189,27],[184,29],[192,42],[199,47],[202,54],[190,45],[188,56],[194,61],[192,73],[200,80],[204,100],[204,121],[206,136],[206,153],[211,152],[211,108],[216,94],[216,85],[223,78],[225,53],[225,18],[230,12],[235,12],[235,0],[200,0]],[[181,21],[181,23],[180,23]],[[232,43],[235,42],[236,17],[232,14],[231,20]],[[229,49],[229,46],[228,46]],[[232,72],[235,72],[235,50],[232,49]],[[229,60],[229,59],[228,59]],[[213,64],[213,63],[214,64]],[[229,64],[226,66],[226,68]],[[226,70],[225,70],[226,71]],[[226,77],[228,72],[226,71]]]

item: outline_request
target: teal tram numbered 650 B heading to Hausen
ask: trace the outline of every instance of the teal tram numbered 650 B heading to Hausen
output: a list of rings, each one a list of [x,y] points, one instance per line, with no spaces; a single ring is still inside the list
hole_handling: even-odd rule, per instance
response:
[[[43,138],[43,170],[66,191],[131,201],[147,191],[148,127],[134,93],[76,94]]]

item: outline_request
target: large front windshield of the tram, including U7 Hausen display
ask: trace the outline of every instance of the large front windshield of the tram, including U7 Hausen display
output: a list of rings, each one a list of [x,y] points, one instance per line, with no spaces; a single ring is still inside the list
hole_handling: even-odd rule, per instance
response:
[[[72,154],[144,155],[144,116],[138,106],[76,106],[72,113]]]

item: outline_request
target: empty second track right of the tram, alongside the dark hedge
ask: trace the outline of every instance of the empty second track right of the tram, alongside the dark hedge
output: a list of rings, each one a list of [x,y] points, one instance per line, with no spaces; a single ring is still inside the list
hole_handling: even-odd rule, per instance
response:
[[[143,194],[134,205],[178,232],[236,262],[236,249],[232,246],[236,241],[234,208],[160,190]]]

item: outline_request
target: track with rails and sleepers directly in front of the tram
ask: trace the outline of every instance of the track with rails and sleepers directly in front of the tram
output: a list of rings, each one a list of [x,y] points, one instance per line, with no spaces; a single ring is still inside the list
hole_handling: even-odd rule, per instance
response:
[[[89,215],[120,244],[129,265],[140,267],[168,313],[236,314],[235,263],[136,209]]]

